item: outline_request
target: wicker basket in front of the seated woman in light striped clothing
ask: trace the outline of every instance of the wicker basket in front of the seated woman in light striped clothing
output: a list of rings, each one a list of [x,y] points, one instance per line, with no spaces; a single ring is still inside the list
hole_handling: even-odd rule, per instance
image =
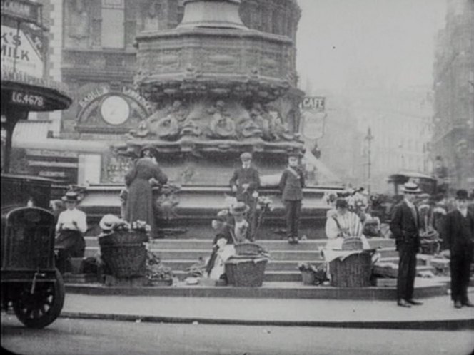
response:
[[[372,254],[360,252],[351,254],[341,261],[334,259],[329,263],[331,285],[336,287],[370,286],[372,273]]]

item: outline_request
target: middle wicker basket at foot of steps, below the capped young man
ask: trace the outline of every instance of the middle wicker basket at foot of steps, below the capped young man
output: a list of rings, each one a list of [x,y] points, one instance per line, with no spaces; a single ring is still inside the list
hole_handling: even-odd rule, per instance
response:
[[[226,261],[228,284],[246,287],[261,286],[267,262],[268,259],[264,257],[230,257]]]

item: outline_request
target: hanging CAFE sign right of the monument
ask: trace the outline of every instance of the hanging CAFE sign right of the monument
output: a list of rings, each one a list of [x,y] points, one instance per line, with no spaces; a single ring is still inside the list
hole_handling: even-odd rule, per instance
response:
[[[324,135],[326,125],[326,98],[311,96],[303,98],[300,104],[301,133],[308,140],[317,140]]]

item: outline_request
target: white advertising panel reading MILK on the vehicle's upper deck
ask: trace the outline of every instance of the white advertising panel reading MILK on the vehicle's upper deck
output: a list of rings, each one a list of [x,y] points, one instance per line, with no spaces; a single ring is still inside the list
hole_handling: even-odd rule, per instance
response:
[[[43,78],[43,43],[41,36],[26,29],[1,25],[1,68]]]

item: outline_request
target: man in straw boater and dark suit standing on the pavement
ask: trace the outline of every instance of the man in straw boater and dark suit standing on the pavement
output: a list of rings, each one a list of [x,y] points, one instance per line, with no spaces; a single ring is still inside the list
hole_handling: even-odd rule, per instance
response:
[[[397,303],[400,307],[420,305],[413,299],[416,275],[416,254],[420,249],[420,217],[418,209],[413,204],[415,197],[420,193],[418,185],[407,182],[403,186],[404,198],[395,206],[390,231],[396,240],[399,254],[397,278]]]

